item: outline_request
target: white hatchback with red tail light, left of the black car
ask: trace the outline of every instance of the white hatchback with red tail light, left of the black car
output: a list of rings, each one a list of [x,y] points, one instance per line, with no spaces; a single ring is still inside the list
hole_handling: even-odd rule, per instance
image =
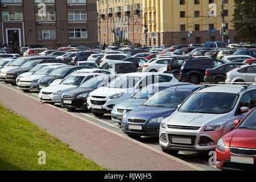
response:
[[[142,72],[158,72],[160,68],[167,67],[172,59],[156,59],[151,63],[144,63]]]

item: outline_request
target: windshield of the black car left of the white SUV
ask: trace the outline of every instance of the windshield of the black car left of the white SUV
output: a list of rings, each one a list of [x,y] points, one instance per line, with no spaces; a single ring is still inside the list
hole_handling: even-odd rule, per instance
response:
[[[93,77],[88,81],[85,81],[82,85],[80,85],[80,88],[92,88],[97,89],[99,87],[104,86],[106,83],[109,82],[109,77]]]

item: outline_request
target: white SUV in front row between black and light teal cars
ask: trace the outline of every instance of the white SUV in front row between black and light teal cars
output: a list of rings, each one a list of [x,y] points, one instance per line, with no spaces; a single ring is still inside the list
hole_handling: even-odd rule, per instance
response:
[[[158,82],[179,82],[166,73],[127,73],[117,77],[109,85],[98,88],[89,94],[88,109],[97,117],[111,113],[114,106],[125,101],[147,85]]]

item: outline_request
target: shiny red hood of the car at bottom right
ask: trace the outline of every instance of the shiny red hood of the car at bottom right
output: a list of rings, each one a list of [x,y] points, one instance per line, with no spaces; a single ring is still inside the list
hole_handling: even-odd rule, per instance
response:
[[[235,129],[223,137],[224,143],[230,147],[255,148],[256,131]]]

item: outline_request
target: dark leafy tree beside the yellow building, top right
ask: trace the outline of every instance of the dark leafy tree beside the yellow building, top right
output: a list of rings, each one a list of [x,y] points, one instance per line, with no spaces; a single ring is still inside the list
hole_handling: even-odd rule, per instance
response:
[[[235,9],[232,22],[237,36],[243,40],[256,42],[256,1],[234,0]]]

